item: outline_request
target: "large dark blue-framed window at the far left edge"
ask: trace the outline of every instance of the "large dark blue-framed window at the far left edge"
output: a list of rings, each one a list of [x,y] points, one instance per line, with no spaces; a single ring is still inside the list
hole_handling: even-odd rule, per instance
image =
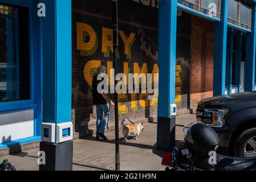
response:
[[[0,2],[0,102],[29,99],[29,10]]]

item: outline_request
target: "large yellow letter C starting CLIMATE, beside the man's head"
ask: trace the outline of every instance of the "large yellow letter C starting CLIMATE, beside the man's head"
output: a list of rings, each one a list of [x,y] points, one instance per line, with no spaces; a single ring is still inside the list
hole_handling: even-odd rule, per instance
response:
[[[90,86],[92,86],[92,78],[94,78],[94,73],[97,72],[100,63],[100,60],[91,60],[88,61],[84,67],[84,78]]]

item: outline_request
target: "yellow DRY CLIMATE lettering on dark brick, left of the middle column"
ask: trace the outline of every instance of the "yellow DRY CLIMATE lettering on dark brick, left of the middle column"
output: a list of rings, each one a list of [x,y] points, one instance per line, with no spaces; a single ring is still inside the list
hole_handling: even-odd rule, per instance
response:
[[[101,35],[99,35],[101,34]],[[101,53],[101,56],[105,59],[111,60],[111,53],[113,53],[113,38],[112,38],[112,30],[107,27],[101,27],[101,32],[96,32],[94,27],[92,27],[90,24],[87,23],[81,23],[76,22],[76,49],[80,51],[80,56],[89,57],[88,61],[84,65],[84,79],[86,80],[88,86],[90,89],[92,88],[92,78],[94,76],[94,73],[96,72],[97,67],[99,67],[101,64],[105,64],[105,61],[102,60],[90,60],[90,56],[94,55],[96,51],[99,51]],[[99,40],[99,37],[101,40]],[[135,32],[129,32],[127,35],[125,35],[125,32],[122,30],[119,30],[119,38],[121,42],[123,42],[123,49],[122,47],[119,48],[119,59],[120,54],[125,57],[125,61],[123,62],[123,69],[122,73],[124,73],[128,77],[128,73],[138,73],[139,75],[141,73],[149,73],[148,63],[143,62],[141,63],[141,67],[139,65],[139,62],[132,60],[132,49],[133,44],[135,43],[136,38],[139,37],[140,43],[141,43],[141,50],[145,52],[146,56],[151,57],[153,61],[155,61],[155,64],[153,64],[152,71],[150,73],[159,73],[159,68],[156,63],[157,61],[157,55],[158,52],[156,51],[155,54],[151,52],[151,47],[147,47],[147,42],[144,40],[145,33],[143,28],[139,27],[138,34]],[[100,42],[100,44],[99,44]],[[153,44],[153,43],[152,43]],[[100,46],[101,45],[101,46]],[[157,46],[154,45],[156,48]],[[113,68],[113,62],[107,61],[107,68],[108,68],[108,76],[110,75],[110,69]],[[133,70],[133,72],[131,72]],[[152,78],[152,82],[154,81],[154,78]],[[111,84],[110,78],[109,78],[109,84]],[[127,81],[128,83],[128,81]],[[146,108],[149,105],[150,106],[157,106],[157,99],[149,101],[148,95],[140,93],[138,96],[136,94],[120,94],[119,95],[119,111],[120,113],[127,114],[128,113],[128,107],[126,104],[123,104],[123,102],[129,102],[129,105],[131,107],[132,111],[137,111],[139,104],[141,107]]]

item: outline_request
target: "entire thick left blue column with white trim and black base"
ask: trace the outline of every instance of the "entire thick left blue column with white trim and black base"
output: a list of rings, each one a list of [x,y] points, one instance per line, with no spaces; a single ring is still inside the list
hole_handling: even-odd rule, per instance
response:
[[[72,32],[71,0],[43,0],[43,123],[40,170],[72,170]]]

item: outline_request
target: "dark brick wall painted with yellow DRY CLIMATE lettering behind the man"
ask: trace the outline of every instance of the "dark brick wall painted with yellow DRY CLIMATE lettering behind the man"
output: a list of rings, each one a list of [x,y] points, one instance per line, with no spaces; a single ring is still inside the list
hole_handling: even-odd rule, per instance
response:
[[[125,74],[159,72],[157,1],[145,2],[119,1],[118,71]],[[192,19],[190,14],[184,12],[177,18],[176,104],[178,111],[184,114],[190,109],[192,103],[196,105],[197,101],[211,94],[212,90],[211,81],[203,81],[204,79],[190,84],[190,80],[194,81],[194,78],[201,76],[212,79],[210,76],[212,60],[206,57],[213,56],[211,52],[213,47],[210,47],[213,46],[211,44],[213,35],[205,33],[205,40],[207,40],[205,44],[209,44],[209,51],[204,50],[201,41],[203,39],[201,34],[204,31],[201,28],[209,27],[205,22],[204,26],[201,25],[200,21],[201,19],[197,20],[194,17]],[[111,23],[109,1],[72,0],[72,122],[80,137],[91,135],[95,129],[96,111],[95,106],[92,106],[91,81],[96,68],[100,64],[105,65],[108,71],[112,68]],[[196,35],[200,35],[199,40]],[[198,44],[201,45],[198,47],[199,51],[194,48]],[[201,52],[205,52],[205,56],[202,56]],[[193,59],[192,65],[191,59]],[[198,61],[200,64],[197,64]],[[202,62],[204,62],[205,71],[201,72],[201,69],[196,68],[195,72],[193,67],[198,67]],[[200,75],[197,75],[198,70]],[[201,90],[200,86],[198,90],[200,97],[197,98],[193,93],[190,94],[190,89],[197,93],[195,89],[200,83],[205,89]],[[111,94],[109,96],[113,98]],[[157,100],[149,101],[147,97],[147,94],[120,94],[119,112],[135,121],[156,121]],[[191,102],[190,97],[192,97]],[[120,118],[123,117],[121,114]],[[114,115],[113,108],[111,108],[111,115]],[[110,126],[113,126],[113,118],[111,117]]]

